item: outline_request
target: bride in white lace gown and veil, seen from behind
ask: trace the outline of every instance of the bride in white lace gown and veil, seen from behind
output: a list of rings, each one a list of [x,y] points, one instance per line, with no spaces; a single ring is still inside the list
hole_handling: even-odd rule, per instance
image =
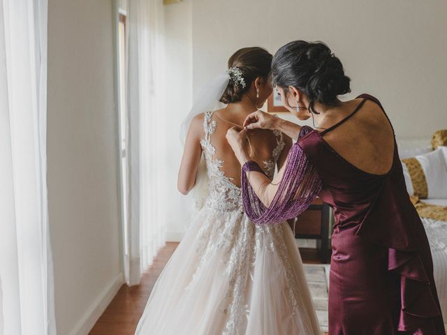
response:
[[[261,47],[238,50],[226,75],[203,89],[184,121],[177,186],[184,194],[193,189],[198,211],[135,334],[321,334],[293,232],[286,222],[249,221],[241,167],[226,140],[228,128],[242,125],[272,94],[271,63]],[[291,145],[278,131],[260,129],[249,137],[251,158],[270,179]]]

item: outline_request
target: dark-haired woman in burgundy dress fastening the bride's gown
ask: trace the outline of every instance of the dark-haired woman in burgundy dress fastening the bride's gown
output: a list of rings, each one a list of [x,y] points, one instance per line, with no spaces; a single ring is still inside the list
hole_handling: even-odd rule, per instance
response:
[[[323,43],[288,43],[275,54],[272,84],[298,126],[256,111],[227,139],[242,168],[244,210],[257,224],[279,223],[318,195],[334,209],[330,335],[446,334],[427,236],[406,192],[393,127],[381,103],[351,101],[341,62]],[[255,128],[298,140],[270,181],[249,158]]]

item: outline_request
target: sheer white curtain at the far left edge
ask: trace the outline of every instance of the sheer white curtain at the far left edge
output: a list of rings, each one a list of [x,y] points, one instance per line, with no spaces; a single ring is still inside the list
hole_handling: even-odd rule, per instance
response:
[[[0,334],[56,334],[46,181],[47,0],[0,0]]]

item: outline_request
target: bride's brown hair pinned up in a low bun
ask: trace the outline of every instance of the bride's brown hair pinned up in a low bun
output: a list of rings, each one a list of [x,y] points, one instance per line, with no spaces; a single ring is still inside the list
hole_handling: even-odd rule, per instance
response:
[[[257,77],[268,80],[272,69],[272,54],[262,47],[243,47],[228,59],[228,68],[239,68],[244,78],[245,87],[230,79],[228,87],[221,97],[222,103],[240,101]]]

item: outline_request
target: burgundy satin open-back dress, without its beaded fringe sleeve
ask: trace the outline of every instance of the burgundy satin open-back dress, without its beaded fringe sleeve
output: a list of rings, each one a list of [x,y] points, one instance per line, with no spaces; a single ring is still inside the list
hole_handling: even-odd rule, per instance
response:
[[[423,223],[406,191],[395,142],[390,171],[377,175],[346,161],[325,142],[346,119],[300,138],[334,209],[329,287],[330,335],[446,334]],[[385,112],[383,110],[383,112]]]

